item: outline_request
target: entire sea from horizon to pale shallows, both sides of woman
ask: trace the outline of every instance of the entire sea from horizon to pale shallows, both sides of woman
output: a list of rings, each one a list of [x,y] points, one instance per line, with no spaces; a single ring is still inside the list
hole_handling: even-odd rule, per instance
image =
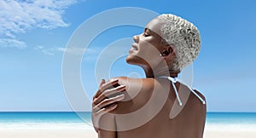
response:
[[[91,112],[0,112],[0,129],[58,127],[93,129]],[[256,112],[207,112],[206,127],[256,131]]]

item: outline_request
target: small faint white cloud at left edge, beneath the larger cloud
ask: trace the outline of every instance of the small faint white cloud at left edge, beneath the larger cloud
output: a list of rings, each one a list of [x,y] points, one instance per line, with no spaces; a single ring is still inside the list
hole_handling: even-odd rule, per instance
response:
[[[15,39],[2,38],[0,39],[0,48],[18,48],[25,49],[26,43]]]

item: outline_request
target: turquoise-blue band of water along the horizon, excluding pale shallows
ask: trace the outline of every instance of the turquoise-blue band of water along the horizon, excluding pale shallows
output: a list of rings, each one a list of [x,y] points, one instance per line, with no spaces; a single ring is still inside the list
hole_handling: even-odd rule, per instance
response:
[[[91,124],[90,115],[90,112],[80,112],[79,115],[75,112],[0,112],[0,124]],[[207,124],[256,124],[256,112],[207,112]]]

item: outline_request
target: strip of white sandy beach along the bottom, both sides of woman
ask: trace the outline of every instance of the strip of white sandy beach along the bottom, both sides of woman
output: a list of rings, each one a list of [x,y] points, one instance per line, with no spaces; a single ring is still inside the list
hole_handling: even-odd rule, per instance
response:
[[[89,128],[1,128],[3,138],[96,138],[94,129]],[[256,138],[253,129],[211,129],[205,130],[204,138]]]

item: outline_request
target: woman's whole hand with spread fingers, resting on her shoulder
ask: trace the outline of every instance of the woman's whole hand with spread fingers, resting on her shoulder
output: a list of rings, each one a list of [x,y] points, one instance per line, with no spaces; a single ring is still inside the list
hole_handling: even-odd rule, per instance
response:
[[[118,105],[117,101],[122,101],[125,98],[124,94],[119,94],[119,92],[125,90],[125,85],[119,85],[118,87],[113,87],[118,84],[118,79],[111,80],[109,82],[105,82],[102,79],[102,82],[99,86],[99,89],[96,92],[96,95],[93,96],[92,102],[92,123],[96,132],[99,129],[100,119],[107,112],[113,111]],[[115,95],[110,97],[110,95]]]

